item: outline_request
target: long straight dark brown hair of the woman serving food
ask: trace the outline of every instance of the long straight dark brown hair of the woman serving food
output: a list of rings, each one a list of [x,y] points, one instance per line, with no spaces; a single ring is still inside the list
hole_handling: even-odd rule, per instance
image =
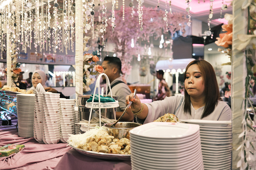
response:
[[[188,67],[191,65],[198,65],[202,76],[203,76],[203,83],[204,83],[204,94],[205,98],[207,99],[205,101],[205,107],[203,111],[203,115],[201,117],[204,118],[208,115],[210,115],[214,109],[215,106],[218,104],[218,99],[220,98],[219,89],[218,89],[218,83],[215,75],[215,71],[212,67],[212,65],[205,61],[205,60],[194,60],[191,61],[187,67],[184,75],[186,75]],[[184,76],[184,80],[186,79],[186,76]],[[191,101],[190,96],[188,95],[188,92],[184,91],[184,112],[189,112],[191,115]]]

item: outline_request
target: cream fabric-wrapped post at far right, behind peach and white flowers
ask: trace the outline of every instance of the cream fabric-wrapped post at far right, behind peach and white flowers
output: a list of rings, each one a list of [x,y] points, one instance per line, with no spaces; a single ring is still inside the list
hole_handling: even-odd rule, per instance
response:
[[[238,138],[244,127],[242,121],[245,120],[245,77],[247,75],[245,53],[236,50],[239,46],[238,34],[246,34],[247,21],[246,11],[242,11],[243,0],[233,0],[233,44],[232,44],[232,133],[233,133],[233,152],[232,152],[232,170],[237,168],[237,162],[241,159],[237,148],[241,145],[243,137]]]

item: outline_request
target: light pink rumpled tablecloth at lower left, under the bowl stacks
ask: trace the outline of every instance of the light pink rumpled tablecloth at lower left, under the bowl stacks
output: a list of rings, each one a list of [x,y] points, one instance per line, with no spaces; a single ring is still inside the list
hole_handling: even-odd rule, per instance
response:
[[[0,131],[0,146],[7,144],[23,144],[25,148],[9,157],[0,157],[1,170],[53,170],[71,148],[66,143],[40,144],[34,137],[19,137],[17,130]]]

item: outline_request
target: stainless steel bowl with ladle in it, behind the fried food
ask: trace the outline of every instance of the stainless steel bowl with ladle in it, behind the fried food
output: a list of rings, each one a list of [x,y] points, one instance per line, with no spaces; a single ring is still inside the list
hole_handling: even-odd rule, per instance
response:
[[[130,139],[129,131],[141,125],[134,122],[118,122],[115,127],[111,127],[112,124],[113,123],[105,123],[104,126],[107,127],[106,129],[109,135],[118,139],[123,137]]]

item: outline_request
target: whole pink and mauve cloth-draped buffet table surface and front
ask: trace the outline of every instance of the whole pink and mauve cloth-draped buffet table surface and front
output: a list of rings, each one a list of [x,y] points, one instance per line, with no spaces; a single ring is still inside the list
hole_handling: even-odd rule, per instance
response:
[[[76,152],[66,143],[41,144],[33,137],[18,136],[17,130],[0,131],[0,146],[23,144],[20,152],[0,157],[1,170],[131,170],[130,161],[111,161],[91,158]]]

